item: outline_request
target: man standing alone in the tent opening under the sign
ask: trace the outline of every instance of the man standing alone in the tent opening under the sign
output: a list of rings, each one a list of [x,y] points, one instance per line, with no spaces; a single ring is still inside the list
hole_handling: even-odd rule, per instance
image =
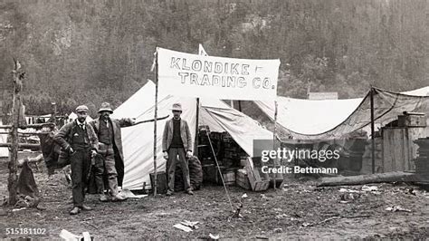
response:
[[[173,195],[175,190],[175,172],[177,161],[183,171],[183,179],[186,193],[194,195],[189,179],[189,168],[187,167],[187,158],[192,156],[192,137],[186,120],[180,118],[182,105],[173,104],[173,118],[167,120],[162,136],[162,151],[164,158],[167,159],[168,190],[167,195]],[[177,155],[179,159],[177,159]]]

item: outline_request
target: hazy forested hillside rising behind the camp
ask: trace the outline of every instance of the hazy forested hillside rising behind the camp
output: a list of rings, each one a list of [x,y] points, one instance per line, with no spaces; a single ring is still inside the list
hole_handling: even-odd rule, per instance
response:
[[[429,83],[428,0],[0,1],[0,93],[13,58],[27,114],[114,107],[148,79],[155,48],[281,60],[278,94],[362,97]],[[3,94],[5,104],[8,94]]]

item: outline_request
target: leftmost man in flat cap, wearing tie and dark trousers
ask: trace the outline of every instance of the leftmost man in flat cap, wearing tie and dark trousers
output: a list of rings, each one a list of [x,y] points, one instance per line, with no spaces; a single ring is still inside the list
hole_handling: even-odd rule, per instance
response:
[[[88,186],[88,177],[91,168],[91,158],[99,149],[99,140],[91,125],[86,123],[88,107],[80,105],[76,108],[78,118],[65,124],[53,137],[63,151],[69,153],[71,162],[71,182],[73,208],[71,215],[76,215],[81,210],[91,210],[91,207],[83,205],[85,191]]]

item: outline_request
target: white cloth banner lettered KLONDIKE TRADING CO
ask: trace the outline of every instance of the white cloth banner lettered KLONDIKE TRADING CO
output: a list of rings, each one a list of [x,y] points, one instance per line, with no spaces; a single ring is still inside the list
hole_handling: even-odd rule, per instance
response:
[[[225,100],[273,100],[280,60],[247,60],[157,48],[162,92]]]

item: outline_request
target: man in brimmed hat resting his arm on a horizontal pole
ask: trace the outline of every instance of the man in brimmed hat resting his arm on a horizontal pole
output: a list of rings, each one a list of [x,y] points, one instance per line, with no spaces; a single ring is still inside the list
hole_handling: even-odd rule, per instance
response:
[[[120,128],[131,126],[136,122],[135,119],[129,118],[111,119],[111,113],[113,110],[110,108],[110,103],[103,102],[99,110],[100,117],[90,122],[99,138],[99,154],[102,157],[96,159],[95,163],[95,182],[102,202],[109,200],[104,195],[104,174],[108,178],[111,200],[125,200],[119,195],[119,187],[122,187],[124,179],[124,155]]]

